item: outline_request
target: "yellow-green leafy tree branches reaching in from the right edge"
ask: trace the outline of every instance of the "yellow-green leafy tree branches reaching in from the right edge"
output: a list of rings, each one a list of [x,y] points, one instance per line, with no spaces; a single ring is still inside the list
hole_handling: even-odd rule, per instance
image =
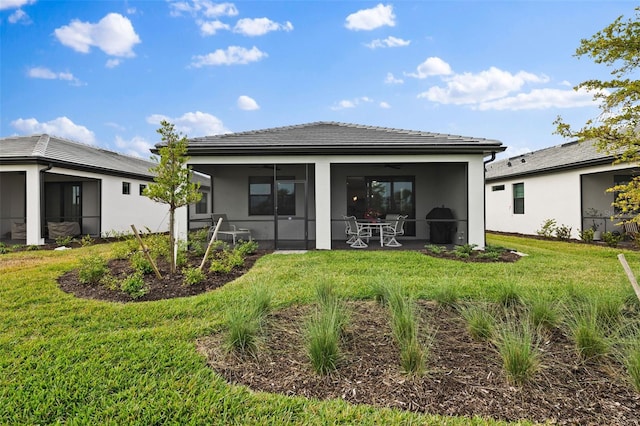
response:
[[[587,80],[574,87],[593,93],[594,100],[600,102],[601,113],[579,130],[558,117],[554,122],[556,133],[595,141],[601,151],[615,157],[614,164],[640,162],[640,7],[635,9],[633,18],[623,20],[620,16],[590,39],[581,40],[575,56],[587,56],[597,64],[612,67],[612,78]],[[608,191],[618,193],[613,205],[620,216],[632,214],[634,220],[640,221],[640,176]]]

